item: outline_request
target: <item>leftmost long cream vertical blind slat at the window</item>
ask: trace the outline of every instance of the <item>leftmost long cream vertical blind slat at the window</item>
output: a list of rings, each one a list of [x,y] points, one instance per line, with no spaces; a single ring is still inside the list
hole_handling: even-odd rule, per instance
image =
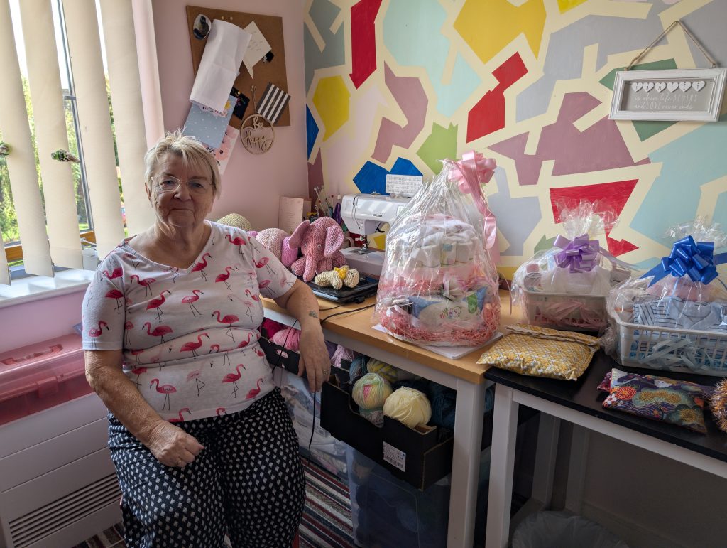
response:
[[[0,51],[5,52],[5,70],[0,78],[0,103],[3,105],[0,108],[0,130],[3,140],[12,147],[12,154],[6,156],[6,161],[17,226],[24,245],[23,263],[28,274],[52,276],[33,140],[25,111],[23,79],[17,61],[8,0],[0,0]],[[0,253],[0,284],[9,283],[7,258]]]

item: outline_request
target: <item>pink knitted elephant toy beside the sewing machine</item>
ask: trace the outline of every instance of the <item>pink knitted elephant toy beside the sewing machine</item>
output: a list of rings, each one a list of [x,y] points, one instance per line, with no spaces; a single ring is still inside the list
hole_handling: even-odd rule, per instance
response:
[[[333,270],[334,266],[346,263],[340,252],[343,245],[343,231],[339,224],[330,217],[320,217],[311,223],[303,221],[293,231],[289,240],[290,247],[300,245],[302,257],[295,261],[290,269],[296,276],[310,282],[316,274]]]

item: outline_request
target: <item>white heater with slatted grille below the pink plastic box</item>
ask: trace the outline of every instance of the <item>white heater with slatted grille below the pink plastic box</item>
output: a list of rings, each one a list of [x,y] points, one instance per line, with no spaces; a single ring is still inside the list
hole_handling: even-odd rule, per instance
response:
[[[70,547],[121,520],[96,394],[0,426],[0,547]]]

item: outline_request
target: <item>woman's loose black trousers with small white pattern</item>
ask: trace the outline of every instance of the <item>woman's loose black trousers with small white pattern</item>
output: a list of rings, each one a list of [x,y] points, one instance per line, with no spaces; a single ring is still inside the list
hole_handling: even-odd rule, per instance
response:
[[[127,548],[289,547],[305,504],[298,440],[280,389],[231,415],[177,423],[204,445],[164,466],[113,416]]]

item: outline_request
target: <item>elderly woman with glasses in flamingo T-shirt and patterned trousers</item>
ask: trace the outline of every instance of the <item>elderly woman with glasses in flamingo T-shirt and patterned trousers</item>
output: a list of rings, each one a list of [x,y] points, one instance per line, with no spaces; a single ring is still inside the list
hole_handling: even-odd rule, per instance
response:
[[[110,413],[127,547],[289,546],[305,501],[292,421],[257,344],[260,296],[300,322],[310,389],[329,359],[308,286],[246,232],[206,221],[214,157],[150,149],[148,230],[104,259],[83,304],[86,376]]]

